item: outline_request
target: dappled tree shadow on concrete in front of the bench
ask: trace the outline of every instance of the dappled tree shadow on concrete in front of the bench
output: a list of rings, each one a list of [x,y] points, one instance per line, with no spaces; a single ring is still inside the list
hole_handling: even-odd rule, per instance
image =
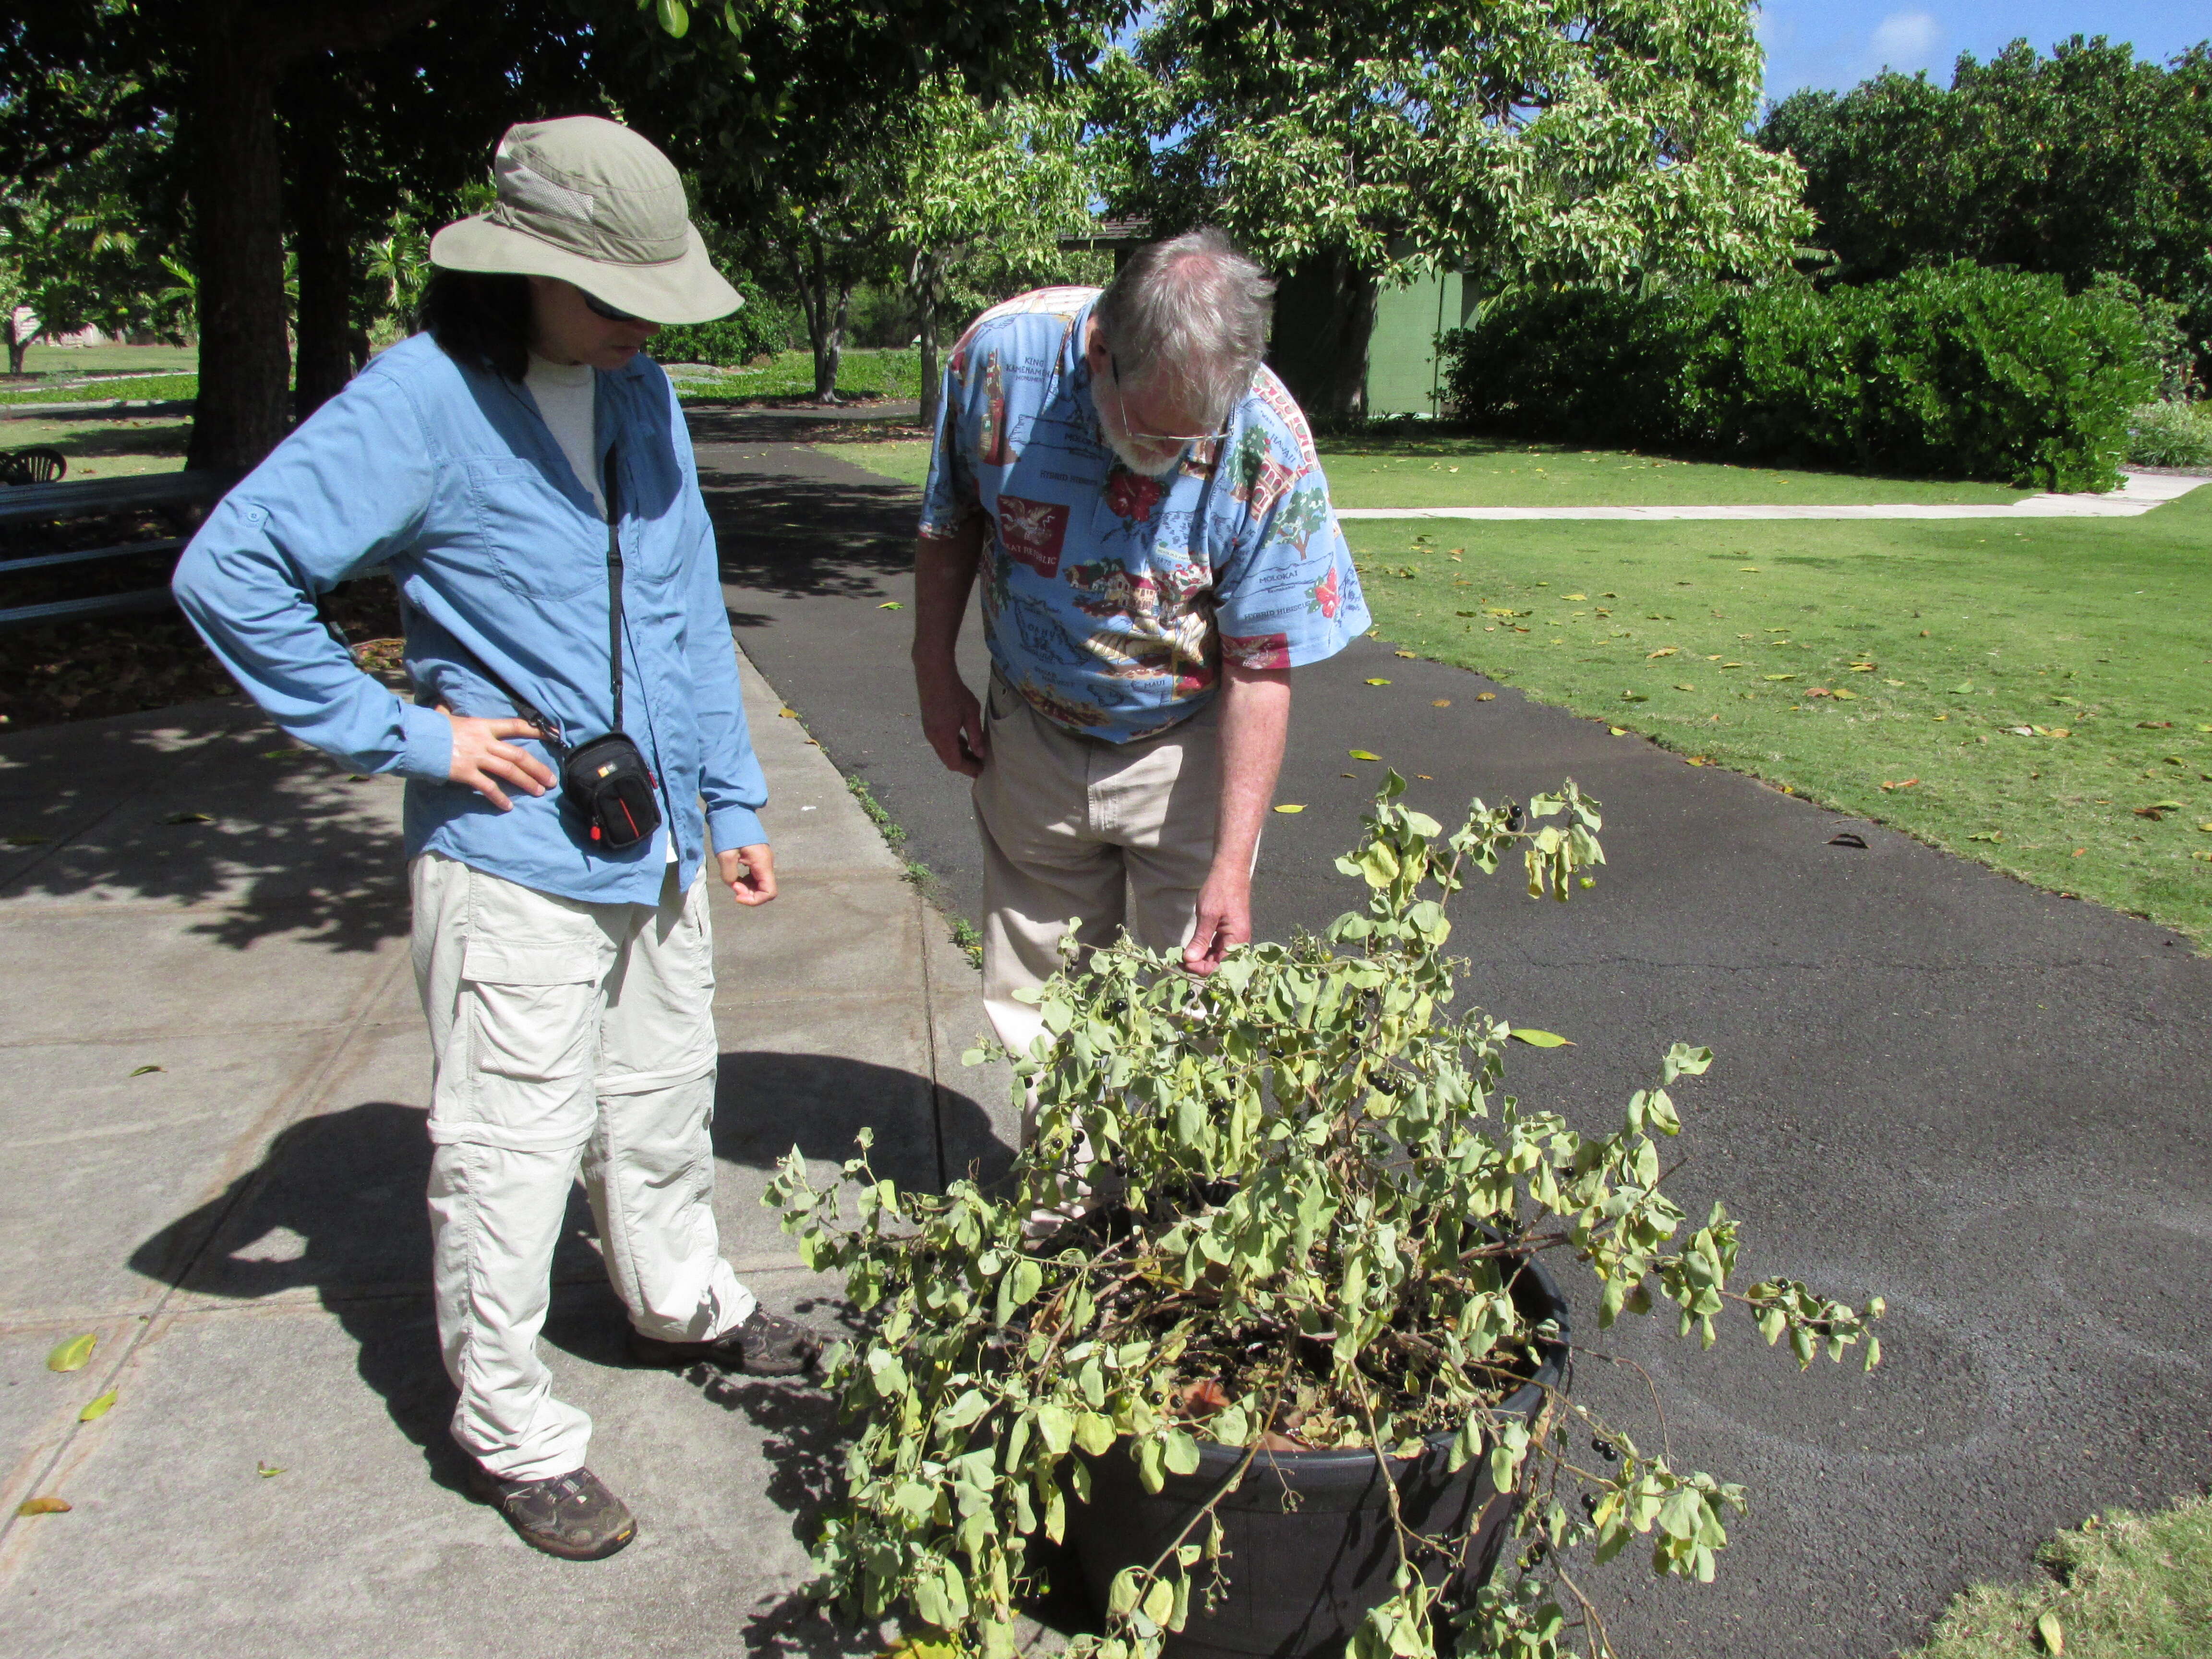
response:
[[[354,779],[246,701],[0,743],[0,898],[221,900],[195,931],[369,951],[407,931],[398,785]]]

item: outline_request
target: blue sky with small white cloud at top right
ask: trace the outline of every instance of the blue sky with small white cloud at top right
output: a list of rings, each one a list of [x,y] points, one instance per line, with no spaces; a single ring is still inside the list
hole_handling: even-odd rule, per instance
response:
[[[2203,0],[1767,0],[1759,40],[1767,49],[1767,97],[1801,86],[1856,86],[1885,66],[1927,69],[1951,84],[1962,51],[1989,60],[2026,38],[2037,51],[2068,35],[2126,40],[2139,58],[2166,62],[2212,35]]]

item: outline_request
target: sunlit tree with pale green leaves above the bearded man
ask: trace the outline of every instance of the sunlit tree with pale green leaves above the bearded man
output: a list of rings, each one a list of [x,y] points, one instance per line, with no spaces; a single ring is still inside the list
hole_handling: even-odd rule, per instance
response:
[[[1294,389],[1354,414],[1380,283],[1785,261],[1809,219],[1798,168],[1745,137],[1763,66],[1750,11],[1166,0],[1102,75],[1110,199],[1155,230],[1219,223],[1318,283],[1318,349]]]

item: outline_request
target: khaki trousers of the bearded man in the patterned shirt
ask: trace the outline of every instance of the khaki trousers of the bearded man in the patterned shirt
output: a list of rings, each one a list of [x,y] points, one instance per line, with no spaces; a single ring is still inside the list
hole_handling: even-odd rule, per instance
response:
[[[1060,969],[1075,922],[1086,947],[1126,925],[1181,949],[1214,863],[1219,701],[1135,743],[1075,737],[991,675],[991,759],[975,779],[982,827],[982,1002],[1015,1053],[1044,1018],[1013,993]]]

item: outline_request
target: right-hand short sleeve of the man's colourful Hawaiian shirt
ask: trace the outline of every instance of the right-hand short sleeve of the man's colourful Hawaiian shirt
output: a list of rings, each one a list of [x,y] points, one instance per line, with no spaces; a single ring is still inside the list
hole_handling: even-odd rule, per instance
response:
[[[1230,560],[1214,573],[1221,655],[1243,668],[1325,661],[1367,628],[1352,549],[1329,507],[1329,480],[1294,434],[1254,422],[1225,465],[1241,469]]]

